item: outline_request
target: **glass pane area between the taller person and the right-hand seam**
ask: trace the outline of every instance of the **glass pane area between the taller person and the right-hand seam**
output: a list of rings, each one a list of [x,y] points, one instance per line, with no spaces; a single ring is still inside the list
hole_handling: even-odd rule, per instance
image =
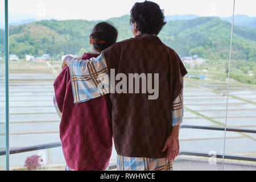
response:
[[[175,3],[171,7],[170,3],[169,7],[172,16],[167,17],[171,21],[160,37],[177,51],[188,71],[184,78],[183,125],[224,127],[220,120],[225,118],[225,65],[232,28],[224,17],[232,16],[233,1],[180,1],[180,5]],[[227,136],[237,138],[236,133]],[[194,155],[203,152],[209,158],[180,155],[174,170],[192,169],[191,166],[193,170],[221,170],[222,161],[215,156],[223,153],[224,131],[182,128],[180,150]]]

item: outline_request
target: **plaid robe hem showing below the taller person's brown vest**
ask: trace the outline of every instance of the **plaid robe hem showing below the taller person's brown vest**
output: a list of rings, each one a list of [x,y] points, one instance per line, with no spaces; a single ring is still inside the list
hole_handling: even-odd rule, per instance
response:
[[[117,171],[172,171],[172,162],[166,158],[130,158],[117,155]]]

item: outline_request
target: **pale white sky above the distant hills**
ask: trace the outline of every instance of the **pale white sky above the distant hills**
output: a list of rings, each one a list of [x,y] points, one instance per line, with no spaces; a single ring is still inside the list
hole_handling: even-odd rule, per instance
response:
[[[10,14],[27,14],[40,19],[105,20],[129,14],[135,2],[144,0],[9,0]],[[165,15],[232,16],[233,0],[152,0]],[[256,16],[255,0],[236,0],[235,14]],[[4,1],[0,0],[0,10]]]

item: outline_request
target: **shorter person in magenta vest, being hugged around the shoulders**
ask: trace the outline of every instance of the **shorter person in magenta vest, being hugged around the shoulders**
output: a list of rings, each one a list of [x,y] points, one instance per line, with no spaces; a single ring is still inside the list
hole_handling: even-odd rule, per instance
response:
[[[81,60],[97,57],[101,51],[117,41],[118,32],[106,22],[96,24],[90,34],[92,52],[85,52]],[[56,110],[61,117],[60,140],[67,163],[66,170],[103,171],[109,166],[112,154],[112,102],[109,94],[88,102],[74,104],[72,80],[65,67],[56,78]],[[85,77],[77,77],[84,80]]]

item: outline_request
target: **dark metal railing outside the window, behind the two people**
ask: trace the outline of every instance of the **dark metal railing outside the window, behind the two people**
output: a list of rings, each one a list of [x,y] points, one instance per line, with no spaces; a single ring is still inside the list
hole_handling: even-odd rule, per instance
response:
[[[196,125],[181,125],[180,128],[187,128],[187,129],[202,129],[202,130],[217,130],[217,131],[224,131],[224,127],[210,127],[210,126],[196,126]],[[237,128],[230,128],[227,127],[226,131],[233,131],[233,132],[242,132],[242,133],[256,133],[256,130],[247,130],[247,129],[237,129]],[[19,154],[23,152],[30,152],[30,151],[37,151],[37,150],[44,150],[47,148],[55,148],[61,147],[60,142],[56,143],[48,143],[48,144],[39,144],[36,146],[30,147],[21,147],[21,148],[11,148],[10,154]],[[6,155],[6,150],[0,150],[0,156]],[[180,151],[179,155],[190,155],[190,156],[201,156],[201,157],[211,157],[207,152],[195,152],[195,151]],[[216,154],[216,158],[222,159],[222,154]],[[256,162],[256,157],[254,156],[241,156],[241,155],[228,155],[226,154],[225,159],[234,159],[234,160],[246,160],[251,162]],[[110,164],[109,169],[116,168],[115,164]]]

